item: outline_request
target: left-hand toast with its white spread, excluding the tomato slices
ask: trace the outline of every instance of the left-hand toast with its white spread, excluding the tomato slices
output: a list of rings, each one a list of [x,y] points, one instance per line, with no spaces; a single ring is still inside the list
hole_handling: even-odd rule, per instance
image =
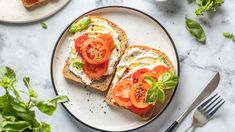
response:
[[[85,69],[86,69],[86,65],[84,65],[85,68],[83,67],[83,69],[81,69],[81,73],[80,73],[80,74],[83,74],[83,76],[85,76],[85,77],[83,77],[79,74],[76,75],[75,74],[76,72],[71,71],[71,69],[74,69],[74,68],[72,68],[72,66],[71,66],[71,63],[72,63],[71,58],[68,57],[68,59],[65,61],[65,65],[64,65],[64,68],[63,68],[63,75],[68,80],[71,80],[71,81],[89,86],[91,88],[94,88],[94,89],[97,89],[97,90],[100,90],[100,91],[106,91],[109,88],[109,85],[112,81],[116,65],[117,65],[120,57],[124,53],[124,50],[126,49],[127,36],[126,36],[125,32],[120,27],[118,27],[116,24],[114,24],[113,22],[111,22],[110,20],[108,20],[106,18],[103,18],[101,16],[87,16],[86,18],[91,19],[90,24],[88,24],[88,27],[86,29],[84,29],[83,31],[75,33],[74,36],[76,37],[76,39],[78,39],[80,36],[85,34],[85,35],[88,35],[91,39],[96,39],[97,36],[102,35],[103,32],[105,32],[105,34],[107,34],[108,30],[110,30],[110,32],[111,31],[115,32],[116,38],[114,38],[114,35],[112,33],[110,33],[113,36],[115,47],[113,48],[113,50],[111,52],[111,55],[110,55],[110,58],[108,60],[109,64],[110,63],[113,63],[113,64],[108,65],[109,67],[107,68],[107,71],[109,70],[108,71],[109,73],[106,72],[105,75],[102,75],[98,79],[91,79],[90,83],[86,83],[84,78],[89,79],[89,76],[87,77],[84,74]],[[84,19],[84,17],[78,19],[76,22],[79,23],[79,21],[81,22],[82,19]],[[101,23],[98,23],[98,22],[101,22]],[[104,29],[102,29],[102,27],[99,27],[99,25],[102,25],[102,26],[104,25],[107,28],[103,27]],[[101,30],[101,31],[99,31],[99,30]],[[92,34],[93,32],[96,32],[96,33]],[[99,32],[102,32],[102,33],[99,33]],[[97,35],[97,36],[95,36],[95,35]],[[72,43],[74,43],[73,41],[74,40],[72,40]],[[76,46],[76,43],[74,45]],[[116,51],[114,51],[114,50],[116,50]],[[117,55],[112,55],[112,54],[114,54],[114,52],[115,53],[118,52],[118,54]],[[79,53],[76,53],[77,58],[78,58],[78,56],[79,56]],[[115,62],[111,62],[111,61],[113,61],[112,57],[114,57],[114,56],[116,56],[116,60],[115,60]],[[84,57],[84,55],[83,55],[83,57]],[[82,62],[84,62],[83,58],[80,59],[80,60]],[[85,64],[92,65],[90,63],[85,63]],[[103,67],[103,66],[101,66],[101,67]],[[84,70],[84,72],[82,70]]]

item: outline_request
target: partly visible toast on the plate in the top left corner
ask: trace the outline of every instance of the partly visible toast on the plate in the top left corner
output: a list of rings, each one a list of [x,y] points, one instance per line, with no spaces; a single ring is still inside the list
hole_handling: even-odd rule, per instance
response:
[[[33,10],[39,6],[45,5],[49,0],[21,0],[24,7],[28,10]]]

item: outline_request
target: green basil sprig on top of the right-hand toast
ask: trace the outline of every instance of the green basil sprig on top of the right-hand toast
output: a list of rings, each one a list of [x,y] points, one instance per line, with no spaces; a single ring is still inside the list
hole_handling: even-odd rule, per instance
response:
[[[164,90],[174,88],[178,83],[178,77],[171,72],[163,73],[158,77],[157,82],[147,76],[144,80],[151,86],[146,93],[146,103],[153,103],[157,100],[163,103],[165,101]]]

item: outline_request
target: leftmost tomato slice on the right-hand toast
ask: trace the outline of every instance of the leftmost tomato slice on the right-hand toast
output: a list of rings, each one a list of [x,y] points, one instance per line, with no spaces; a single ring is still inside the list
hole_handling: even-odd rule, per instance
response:
[[[130,79],[124,79],[114,87],[112,96],[120,106],[128,108],[132,105],[129,98],[129,89],[131,86],[132,81]]]

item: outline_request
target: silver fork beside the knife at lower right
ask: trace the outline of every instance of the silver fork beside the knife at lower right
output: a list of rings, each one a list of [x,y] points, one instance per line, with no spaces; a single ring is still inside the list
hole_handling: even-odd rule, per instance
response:
[[[207,101],[202,103],[193,114],[193,121],[191,126],[185,130],[188,132],[193,126],[203,126],[210,118],[215,114],[215,112],[225,103],[223,98],[220,98],[218,94],[209,98]]]

